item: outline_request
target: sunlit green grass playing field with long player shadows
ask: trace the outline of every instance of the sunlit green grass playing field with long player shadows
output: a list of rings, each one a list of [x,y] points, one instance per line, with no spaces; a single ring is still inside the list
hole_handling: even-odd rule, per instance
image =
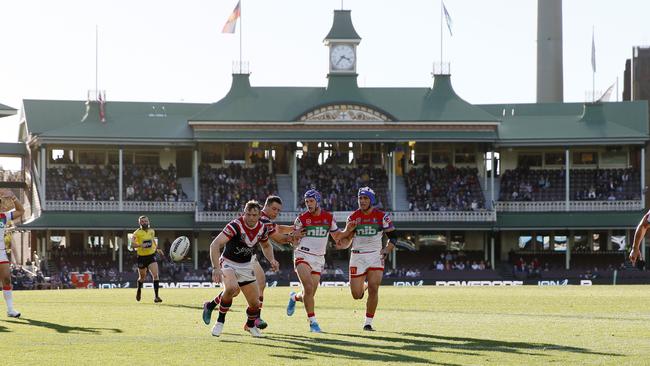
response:
[[[372,333],[361,330],[365,302],[321,288],[323,334],[309,333],[300,307],[286,316],[288,293],[267,290],[259,339],[242,329],[243,297],[210,335],[200,304],[216,290],[162,289],[162,304],[152,290],[141,303],[132,289],[15,292],[23,317],[0,317],[0,352],[11,365],[650,363],[647,286],[382,287]]]

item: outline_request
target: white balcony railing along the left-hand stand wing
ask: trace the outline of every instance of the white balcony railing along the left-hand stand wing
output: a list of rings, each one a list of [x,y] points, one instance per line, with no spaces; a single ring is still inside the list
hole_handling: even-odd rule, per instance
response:
[[[45,201],[46,211],[128,211],[128,212],[194,212],[194,202],[124,201]]]

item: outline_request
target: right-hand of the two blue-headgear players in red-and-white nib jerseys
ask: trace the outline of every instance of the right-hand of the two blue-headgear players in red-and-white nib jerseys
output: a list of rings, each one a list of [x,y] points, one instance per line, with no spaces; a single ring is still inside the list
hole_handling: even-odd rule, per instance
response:
[[[384,274],[384,259],[395,249],[395,227],[386,212],[373,207],[376,200],[372,189],[359,189],[357,199],[359,209],[348,217],[348,226],[354,228],[350,254],[350,291],[355,300],[362,299],[364,282],[368,281],[366,322],[363,329],[372,331],[372,319],[379,302],[379,285]],[[382,248],[384,234],[388,237],[388,244]],[[337,243],[337,248],[345,249],[345,244]]]

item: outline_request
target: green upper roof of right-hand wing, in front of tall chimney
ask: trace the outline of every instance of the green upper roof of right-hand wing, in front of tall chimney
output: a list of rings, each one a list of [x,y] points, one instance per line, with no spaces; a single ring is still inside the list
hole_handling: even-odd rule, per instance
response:
[[[480,106],[501,116],[499,145],[639,144],[649,140],[645,101],[499,104]]]

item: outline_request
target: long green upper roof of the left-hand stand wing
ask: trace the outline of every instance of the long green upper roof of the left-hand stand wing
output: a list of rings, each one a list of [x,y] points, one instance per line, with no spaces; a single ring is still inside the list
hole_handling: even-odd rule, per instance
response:
[[[45,139],[121,144],[143,142],[191,142],[187,120],[206,104],[111,102],[105,104],[106,122],[99,120],[99,105],[92,102],[88,117],[85,101],[25,100],[25,119],[30,134]]]

